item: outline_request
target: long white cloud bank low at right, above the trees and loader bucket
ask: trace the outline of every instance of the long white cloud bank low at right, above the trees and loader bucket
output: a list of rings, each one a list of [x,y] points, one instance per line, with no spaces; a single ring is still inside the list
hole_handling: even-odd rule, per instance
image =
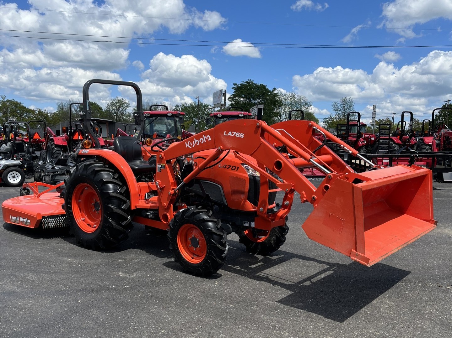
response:
[[[432,51],[401,68],[381,61],[372,74],[341,66],[319,67],[312,74],[295,75],[292,85],[314,102],[352,97],[386,112],[426,112],[428,102],[438,105],[452,95],[452,51]]]

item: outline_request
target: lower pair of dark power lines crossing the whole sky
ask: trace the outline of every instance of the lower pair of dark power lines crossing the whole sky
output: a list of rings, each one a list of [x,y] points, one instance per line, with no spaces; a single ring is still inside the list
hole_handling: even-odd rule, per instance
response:
[[[2,29],[0,29],[2,30]],[[42,32],[46,34],[66,34],[66,33],[50,33]],[[82,34],[68,34],[68,35],[81,35],[81,36],[91,36]],[[161,42],[132,42],[132,41],[105,41],[105,40],[84,40],[84,39],[66,39],[57,37],[30,37],[24,35],[5,35],[0,34],[0,37],[22,37],[35,40],[53,40],[53,41],[77,41],[77,42],[102,42],[102,43],[120,43],[120,44],[136,44],[136,45],[158,45],[158,46],[197,46],[197,47],[224,47],[226,45],[207,45],[207,44],[190,44],[190,43],[161,43]],[[99,36],[100,37],[100,36]],[[186,42],[203,42],[202,40],[170,40],[170,39],[153,39],[153,38],[141,38],[141,37],[117,37],[117,38],[127,38],[127,39],[140,39],[140,40],[164,40],[164,41],[186,41]],[[207,42],[208,43],[208,42]],[[230,42],[220,42],[223,44],[228,44]],[[234,42],[234,44],[239,44],[240,42]],[[242,42],[243,43],[243,42]],[[251,47],[255,48],[255,45],[261,45],[259,48],[451,48],[452,45],[419,45],[419,46],[344,46],[344,45],[316,45],[316,44],[273,44],[273,43],[263,43],[263,42],[246,42],[244,46],[240,47]],[[264,46],[266,45],[266,46]],[[235,46],[236,45],[232,45]]]

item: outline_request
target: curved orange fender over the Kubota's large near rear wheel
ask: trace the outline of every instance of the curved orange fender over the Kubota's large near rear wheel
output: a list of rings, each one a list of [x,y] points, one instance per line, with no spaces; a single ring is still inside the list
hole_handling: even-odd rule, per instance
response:
[[[138,191],[137,180],[132,169],[130,169],[126,160],[121,155],[109,149],[81,149],[77,153],[77,158],[84,157],[102,157],[106,161],[113,164],[124,177],[130,192],[130,208],[133,210],[137,207],[140,192]]]

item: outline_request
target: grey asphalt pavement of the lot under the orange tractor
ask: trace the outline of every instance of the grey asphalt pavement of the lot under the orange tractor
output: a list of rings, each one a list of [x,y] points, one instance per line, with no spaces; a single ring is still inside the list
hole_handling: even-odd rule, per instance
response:
[[[0,186],[0,202],[18,194]],[[210,278],[142,225],[96,252],[0,215],[0,337],[452,337],[452,184],[433,198],[437,228],[370,268],[309,240],[312,207],[296,202],[280,250],[251,255],[230,235]]]

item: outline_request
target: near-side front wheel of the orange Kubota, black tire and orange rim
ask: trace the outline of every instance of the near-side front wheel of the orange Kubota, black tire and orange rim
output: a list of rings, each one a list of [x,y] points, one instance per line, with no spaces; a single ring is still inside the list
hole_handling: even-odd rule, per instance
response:
[[[184,271],[201,276],[210,276],[225,264],[226,236],[220,220],[194,206],[176,213],[168,232],[174,261],[182,265]]]

